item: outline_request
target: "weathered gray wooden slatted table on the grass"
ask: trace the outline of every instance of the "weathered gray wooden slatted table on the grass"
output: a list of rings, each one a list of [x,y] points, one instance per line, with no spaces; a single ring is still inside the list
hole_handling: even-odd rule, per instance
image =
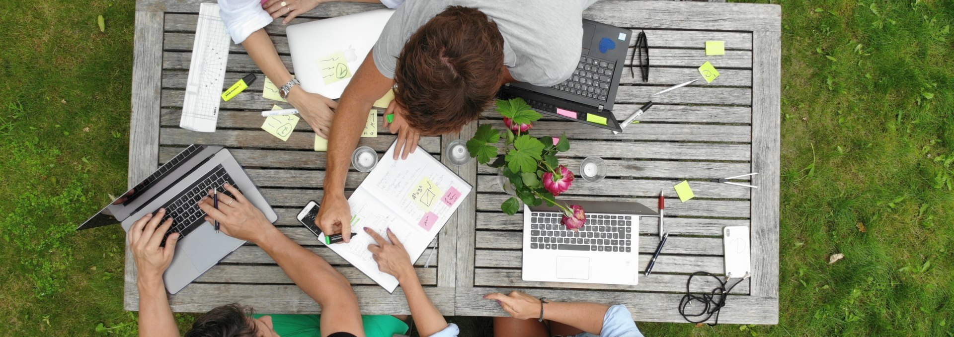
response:
[[[321,247],[298,224],[295,214],[305,202],[321,201],[325,154],[312,150],[313,135],[306,123],[299,123],[287,142],[260,129],[263,119],[259,111],[276,103],[261,97],[260,80],[221,103],[216,132],[178,128],[199,2],[136,1],[130,186],[189,144],[225,146],[280,214],[276,226],[341,270],[354,284],[363,312],[409,313],[400,288],[388,295]],[[325,4],[293,23],[379,8],[382,6]],[[439,235],[431,266],[424,268],[426,252],[416,263],[426,292],[446,315],[504,315],[496,303],[481,296],[519,288],[553,299],[623,303],[633,310],[637,321],[684,322],[676,305],[688,274],[699,270],[721,274],[721,228],[748,226],[754,275],[736,287],[719,321],[777,324],[779,7],[612,0],[595,4],[584,17],[645,30],[649,38],[650,81],[635,80],[629,69],[625,70],[615,108],[620,120],[647,102],[651,93],[699,78],[696,68],[705,61],[721,72],[712,84],[696,82],[693,87],[653,97],[656,105],[640,117],[642,123],[618,136],[553,118],[535,124],[537,135],[567,132],[571,149],[562,160],[571,168],[578,168],[582,158],[591,155],[603,157],[609,164],[607,179],[597,184],[577,179],[566,198],[639,201],[654,206],[660,189],[672,191],[679,181],[691,181],[695,199],[680,203],[670,193],[666,228],[673,236],[653,275],[641,276],[636,287],[522,281],[521,217],[499,211],[507,195],[497,186],[495,170],[478,168],[472,161],[463,167],[450,166],[477,192],[466,199]],[[285,66],[292,69],[280,20],[266,30]],[[705,41],[713,40],[725,41],[725,55],[705,55]],[[261,78],[245,50],[233,45],[225,86],[246,72],[259,73]],[[282,107],[288,108],[287,104]],[[485,116],[480,123],[502,124],[493,111]],[[474,129],[476,123],[463,129],[463,136],[424,137],[420,145],[444,160],[441,152],[446,144],[459,137],[468,139]],[[385,129],[379,132],[377,138],[362,138],[361,145],[383,152],[395,137]],[[708,182],[750,171],[759,173],[753,179],[757,189]],[[363,176],[357,171],[349,173],[347,188],[357,187]],[[657,223],[653,219],[640,225],[640,260],[646,262],[658,242]],[[130,310],[138,307],[135,277],[135,265],[127,254],[125,307]],[[694,291],[709,291],[712,286],[699,282]],[[194,284],[170,296],[176,311],[200,312],[233,302],[268,313],[321,311],[253,245],[239,248]]]

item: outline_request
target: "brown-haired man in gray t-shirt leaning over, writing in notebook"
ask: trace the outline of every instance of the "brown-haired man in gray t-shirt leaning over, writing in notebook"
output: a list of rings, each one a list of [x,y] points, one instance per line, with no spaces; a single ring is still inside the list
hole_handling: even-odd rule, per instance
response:
[[[400,0],[397,0],[400,1]],[[407,0],[344,89],[328,138],[324,196],[316,225],[349,242],[344,180],[367,111],[388,89],[384,126],[406,158],[422,135],[476,121],[500,86],[553,86],[579,63],[583,10],[596,0]],[[388,5],[390,6],[390,5]],[[363,111],[363,112],[362,112]],[[343,226],[342,226],[343,225]]]

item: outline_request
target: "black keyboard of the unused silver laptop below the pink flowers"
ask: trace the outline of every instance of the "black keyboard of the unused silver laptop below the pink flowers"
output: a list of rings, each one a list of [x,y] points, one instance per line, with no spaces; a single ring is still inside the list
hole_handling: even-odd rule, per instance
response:
[[[560,224],[561,217],[559,212],[530,214],[530,249],[633,251],[632,215],[587,214],[579,231]]]

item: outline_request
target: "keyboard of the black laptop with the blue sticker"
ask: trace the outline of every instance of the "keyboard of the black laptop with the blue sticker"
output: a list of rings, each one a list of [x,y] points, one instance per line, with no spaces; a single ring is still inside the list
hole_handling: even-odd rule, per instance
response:
[[[614,69],[616,69],[616,65],[612,62],[590,56],[580,56],[580,63],[576,65],[573,75],[563,83],[550,88],[606,101],[606,97],[610,95],[612,71]]]

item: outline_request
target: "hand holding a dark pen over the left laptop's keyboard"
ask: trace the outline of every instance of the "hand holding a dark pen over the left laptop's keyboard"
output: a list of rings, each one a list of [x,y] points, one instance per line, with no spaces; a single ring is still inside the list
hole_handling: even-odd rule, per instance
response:
[[[228,189],[235,199],[230,198],[225,193],[218,193],[218,209],[212,201],[212,189],[209,189],[209,196],[202,197],[198,201],[198,207],[205,212],[205,221],[210,224],[218,221],[219,229],[226,235],[239,240],[251,241],[259,244],[265,233],[269,229],[275,229],[261,213],[259,208],[252,205],[245,196],[232,185],[226,183],[223,188]]]

